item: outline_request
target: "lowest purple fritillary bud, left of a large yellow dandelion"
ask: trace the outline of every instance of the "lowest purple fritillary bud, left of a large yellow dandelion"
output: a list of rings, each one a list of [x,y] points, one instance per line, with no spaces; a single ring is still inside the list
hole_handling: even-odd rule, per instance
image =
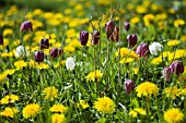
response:
[[[135,89],[133,81],[127,79],[125,82],[125,90],[126,90],[127,95],[130,95],[133,89]]]

